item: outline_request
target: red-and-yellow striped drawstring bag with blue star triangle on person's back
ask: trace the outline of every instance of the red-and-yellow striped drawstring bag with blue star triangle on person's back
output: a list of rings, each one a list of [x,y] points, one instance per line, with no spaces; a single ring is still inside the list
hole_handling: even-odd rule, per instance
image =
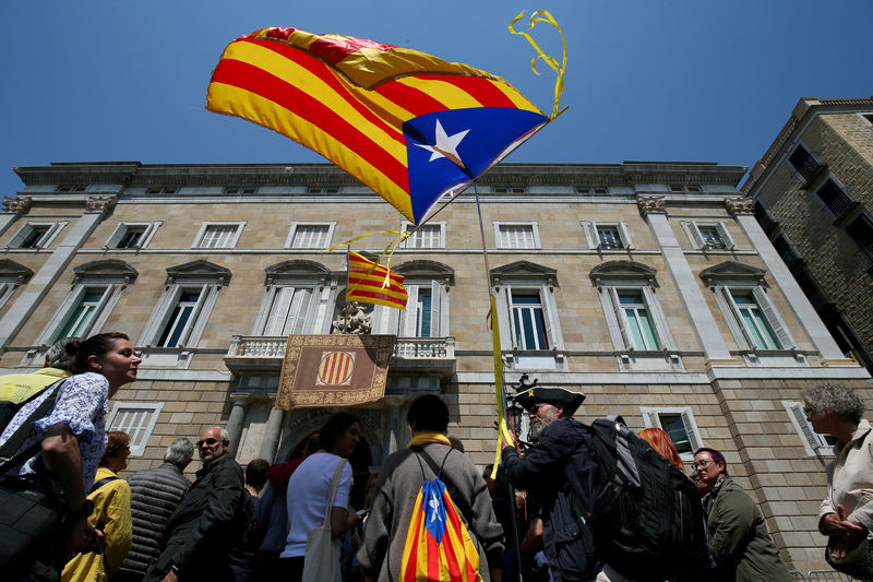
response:
[[[418,491],[403,548],[400,580],[479,580],[479,554],[439,478],[423,482]]]

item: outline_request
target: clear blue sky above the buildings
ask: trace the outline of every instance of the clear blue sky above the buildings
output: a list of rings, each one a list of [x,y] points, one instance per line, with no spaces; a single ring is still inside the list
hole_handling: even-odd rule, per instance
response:
[[[562,107],[510,162],[751,166],[802,96],[873,95],[871,0],[7,0],[0,5],[0,197],[50,162],[323,158],[204,108],[225,45],[295,26],[407,46],[505,78],[551,111],[554,76],[506,29],[549,10],[567,40]],[[525,19],[526,22],[527,19]],[[534,31],[560,57],[557,33]]]

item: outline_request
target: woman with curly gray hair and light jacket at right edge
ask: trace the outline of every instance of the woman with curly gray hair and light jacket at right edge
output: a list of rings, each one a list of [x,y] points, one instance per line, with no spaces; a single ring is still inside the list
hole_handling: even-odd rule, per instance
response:
[[[818,531],[828,536],[825,558],[837,570],[873,580],[873,430],[862,418],[864,404],[849,387],[820,384],[803,390],[803,412],[820,435],[837,439],[827,467],[827,496],[818,511]],[[849,557],[849,554],[852,554]],[[863,558],[859,553],[869,557]],[[866,562],[849,571],[849,562]]]

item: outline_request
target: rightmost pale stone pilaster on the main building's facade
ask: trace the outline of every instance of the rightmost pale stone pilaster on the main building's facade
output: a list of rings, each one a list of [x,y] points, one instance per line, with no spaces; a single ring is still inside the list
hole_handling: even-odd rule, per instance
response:
[[[725,206],[737,218],[737,222],[745,231],[745,236],[752,241],[752,246],[757,251],[758,257],[767,265],[767,271],[769,271],[770,276],[773,276],[782,295],[785,295],[788,305],[791,306],[798,317],[798,322],[806,330],[806,335],[809,335],[818,354],[821,354],[822,365],[854,366],[856,364],[851,359],[847,359],[842,355],[837,342],[834,341],[830,332],[827,331],[827,328],[822,322],[822,318],[818,317],[815,308],[800,288],[800,285],[798,285],[794,275],[791,274],[782,258],[773,248],[773,244],[767,238],[767,235],[764,234],[764,229],[757,224],[753,215],[755,201],[751,198],[728,198],[725,199]]]

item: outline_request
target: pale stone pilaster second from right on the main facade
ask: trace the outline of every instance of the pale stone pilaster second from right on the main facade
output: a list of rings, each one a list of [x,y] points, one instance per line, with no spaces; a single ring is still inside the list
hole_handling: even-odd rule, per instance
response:
[[[658,240],[658,247],[660,247],[663,260],[673,277],[677,292],[682,298],[691,325],[703,347],[707,366],[738,365],[739,363],[731,357],[721,334],[713,333],[718,329],[715,318],[706,305],[699,282],[692,273],[691,265],[685,260],[685,253],[680,248],[679,241],[667,222],[667,205],[663,197],[637,195],[636,205]]]

